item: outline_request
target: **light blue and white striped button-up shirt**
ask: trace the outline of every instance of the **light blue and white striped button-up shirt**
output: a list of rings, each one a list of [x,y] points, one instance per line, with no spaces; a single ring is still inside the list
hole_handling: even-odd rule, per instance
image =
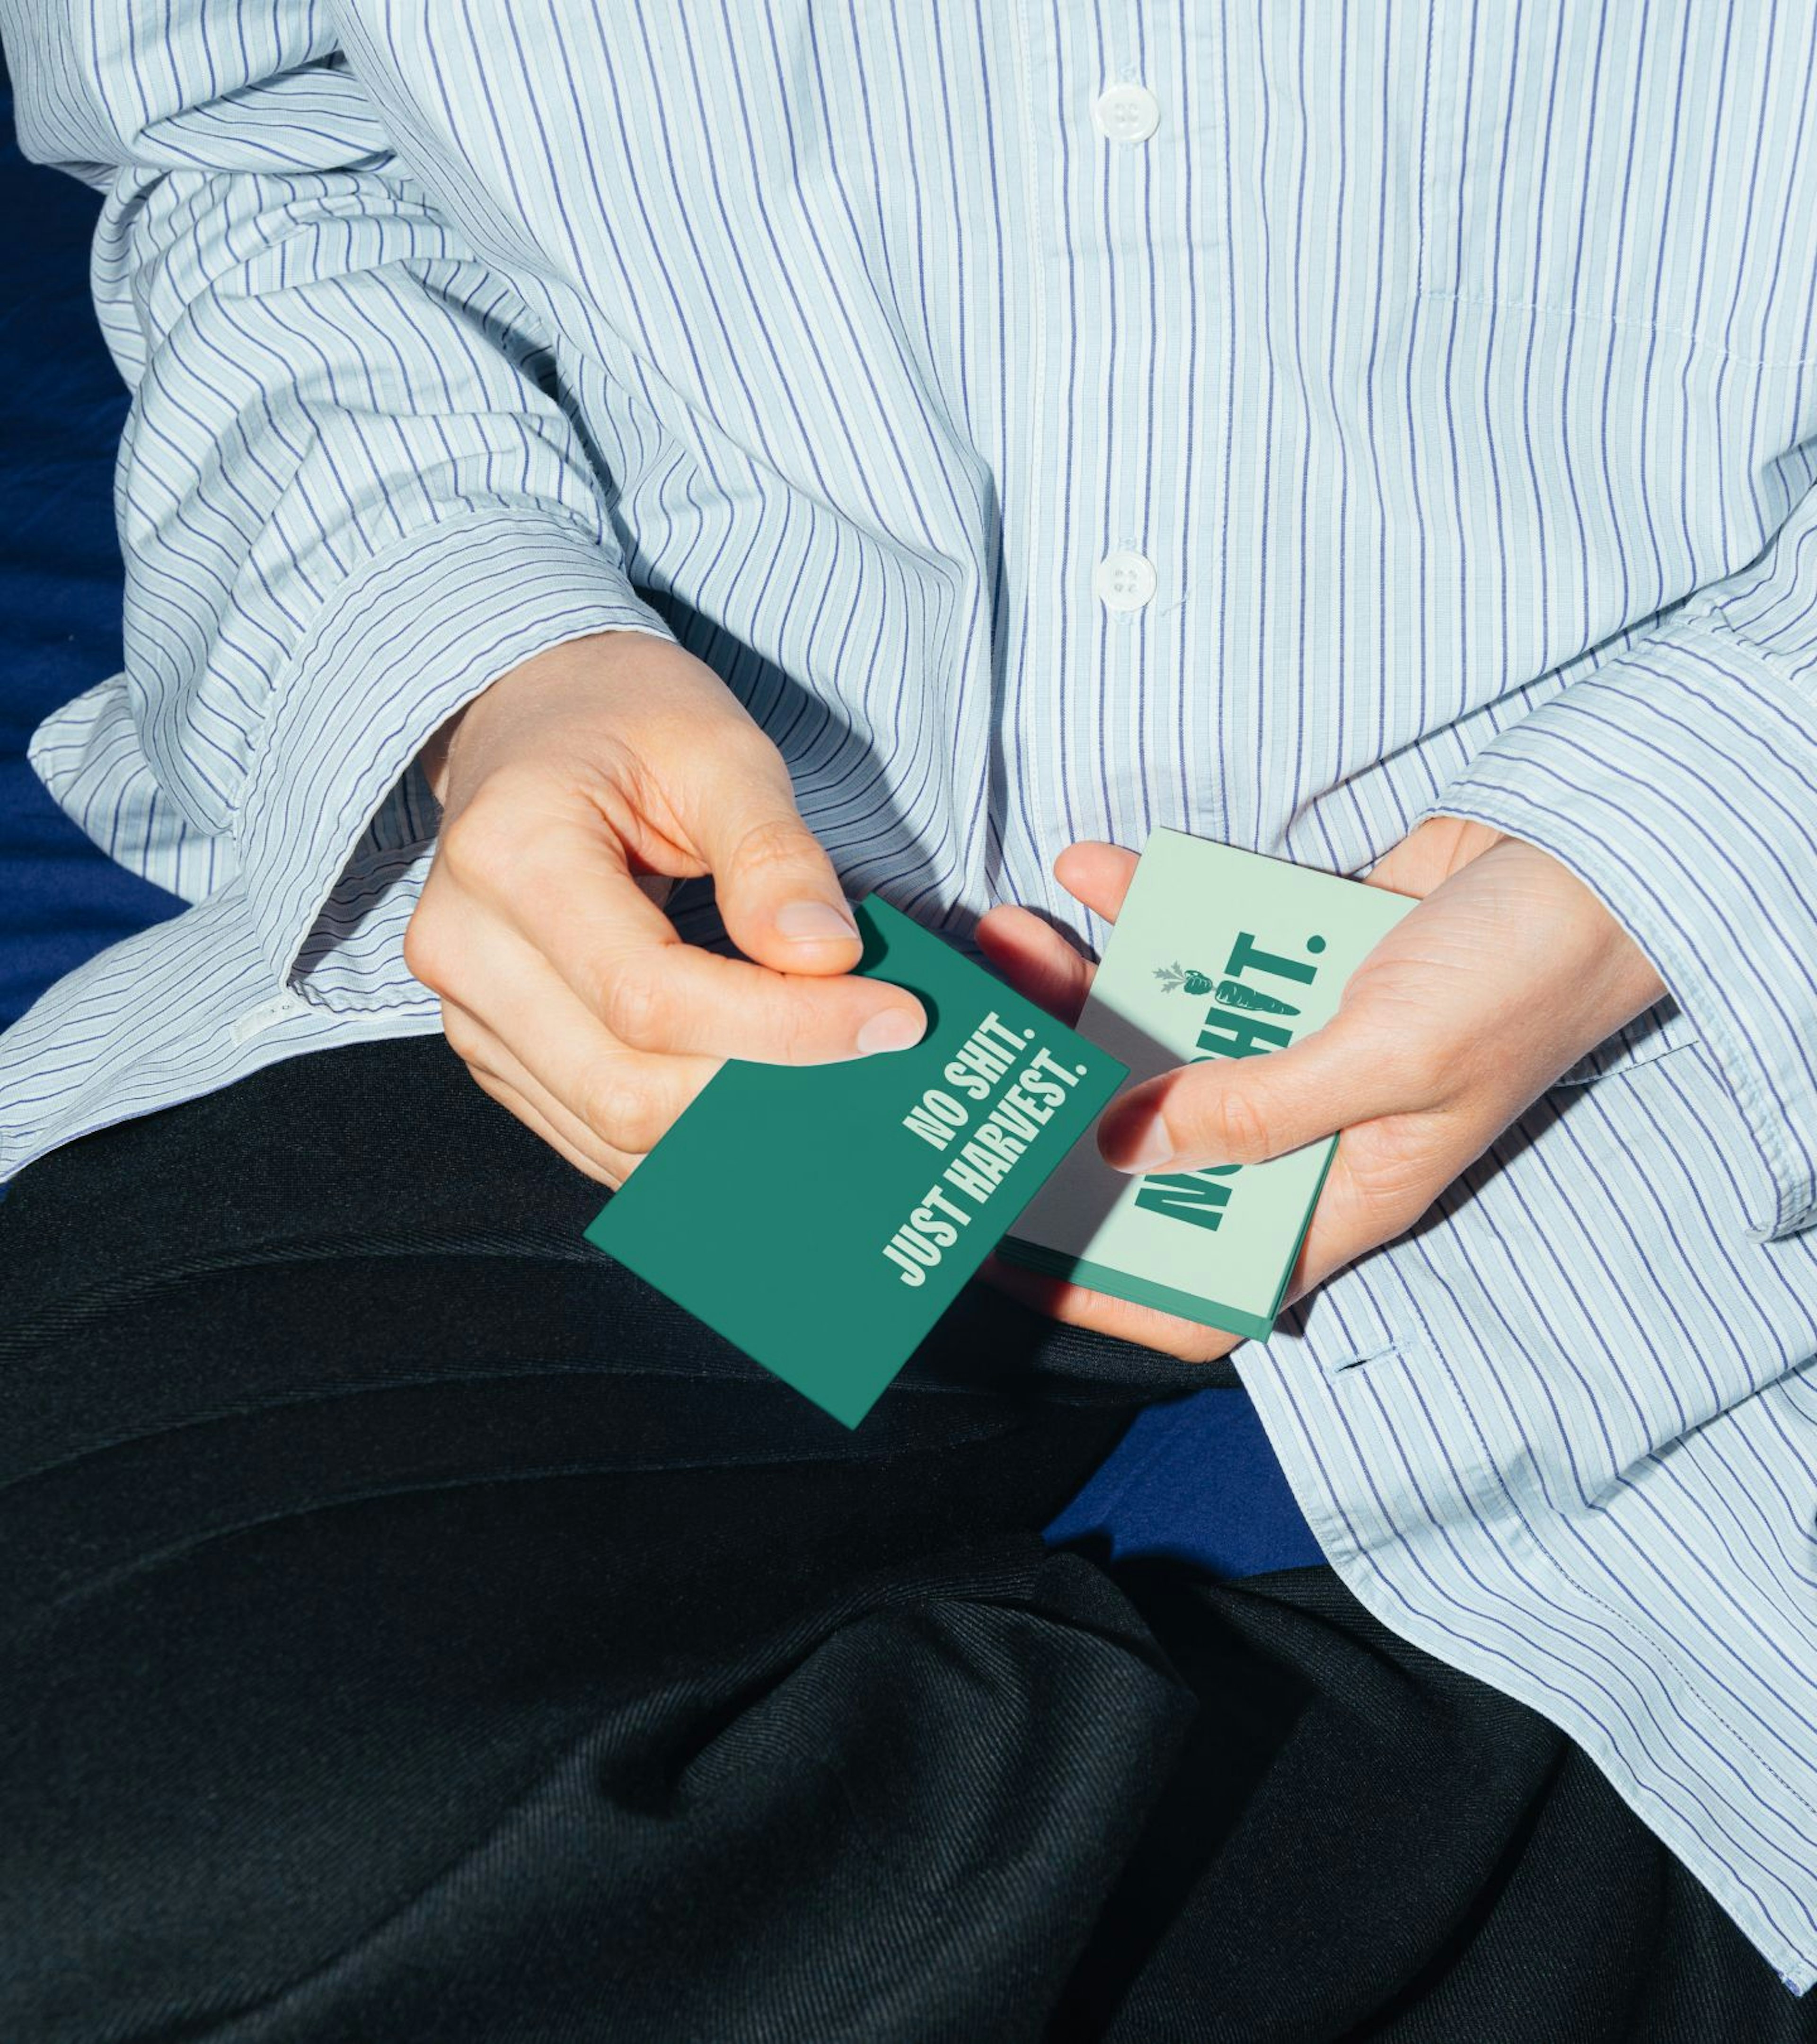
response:
[[[0,1040],[0,1175],[433,1030],[413,754],[609,625],[959,938],[1083,836],[1531,838],[1670,997],[1239,1363],[1357,1596],[1809,1987],[1817,10],[0,18],[135,392],[127,668],[33,758],[194,903]]]

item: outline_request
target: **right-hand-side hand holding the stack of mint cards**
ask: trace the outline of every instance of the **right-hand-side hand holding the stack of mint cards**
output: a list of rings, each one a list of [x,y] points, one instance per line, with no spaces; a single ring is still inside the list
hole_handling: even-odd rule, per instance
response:
[[[1110,920],[1136,871],[1073,844],[1061,885]],[[1592,1044],[1666,991],[1645,953],[1576,875],[1484,824],[1433,818],[1367,877],[1414,895],[1351,973],[1337,1016],[1284,1051],[1212,1059],[1118,1096],[1098,1147],[1118,1171],[1261,1163],[1341,1130],[1288,1298],[1392,1241]],[[1091,967],[1046,922],[995,908],[979,946],[1024,995],[1071,1022]],[[1237,1335],[991,1259],[983,1275],[1059,1320],[1187,1361]]]

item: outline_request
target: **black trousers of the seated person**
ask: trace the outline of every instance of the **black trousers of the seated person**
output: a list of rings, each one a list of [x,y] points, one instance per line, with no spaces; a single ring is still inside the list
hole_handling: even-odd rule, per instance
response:
[[[1206,1372],[973,1288],[846,1433],[599,1198],[439,1038],[20,1175],[6,2044],[1817,2036],[1329,1570],[1042,1547]]]

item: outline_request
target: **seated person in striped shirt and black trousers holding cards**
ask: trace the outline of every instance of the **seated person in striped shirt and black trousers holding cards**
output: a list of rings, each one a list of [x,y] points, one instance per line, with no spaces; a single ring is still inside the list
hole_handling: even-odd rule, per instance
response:
[[[6,2034],[1817,2034],[1817,22],[0,20],[190,903],[0,1040]],[[995,1269],[844,1435],[578,1241],[1155,824],[1418,897],[1104,1116],[1341,1130],[1269,1341]],[[1239,1378],[1329,1568],[1042,1545]]]

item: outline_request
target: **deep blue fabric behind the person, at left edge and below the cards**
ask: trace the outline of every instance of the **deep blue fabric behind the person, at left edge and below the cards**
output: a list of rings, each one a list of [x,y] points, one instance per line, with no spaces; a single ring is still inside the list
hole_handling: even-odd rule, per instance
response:
[[[25,760],[37,722],[121,666],[112,462],[127,397],[88,300],[96,200],[20,161],[0,78],[0,1028],[57,977],[182,905],[57,809]],[[4,1188],[0,1188],[4,1196]],[[1049,1529],[1218,1576],[1322,1560],[1243,1392],[1143,1412]]]

